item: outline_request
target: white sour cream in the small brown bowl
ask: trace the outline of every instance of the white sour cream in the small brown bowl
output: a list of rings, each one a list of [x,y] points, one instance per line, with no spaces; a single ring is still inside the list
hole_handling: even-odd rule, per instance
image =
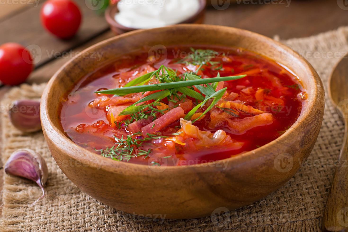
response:
[[[120,0],[119,24],[135,29],[162,27],[180,23],[195,15],[199,0]]]

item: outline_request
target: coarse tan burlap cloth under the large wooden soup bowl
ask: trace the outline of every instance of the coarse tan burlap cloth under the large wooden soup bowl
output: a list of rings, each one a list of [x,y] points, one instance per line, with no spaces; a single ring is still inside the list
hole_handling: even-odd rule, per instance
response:
[[[348,51],[347,39],[348,27],[343,27],[283,42],[308,59],[327,90],[334,65]],[[18,98],[40,97],[43,88],[44,85],[14,88],[1,106],[8,106]],[[220,217],[153,221],[112,209],[80,191],[56,165],[42,133],[22,134],[3,113],[2,161],[5,163],[16,149],[33,149],[46,159],[49,178],[45,199],[30,206],[41,194],[39,187],[31,181],[4,175],[0,231],[320,231],[334,172],[334,167],[326,161],[337,160],[342,137],[343,123],[336,107],[327,99],[324,122],[313,152],[282,188]]]

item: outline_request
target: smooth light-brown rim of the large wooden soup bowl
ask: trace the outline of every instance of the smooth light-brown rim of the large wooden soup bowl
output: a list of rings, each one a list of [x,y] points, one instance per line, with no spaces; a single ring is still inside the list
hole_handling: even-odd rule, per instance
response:
[[[272,40],[269,37],[266,37],[264,35],[255,33],[255,32],[251,32],[251,31],[247,31],[247,30],[243,30],[243,29],[238,29],[235,27],[228,27],[228,26],[219,26],[219,25],[207,25],[207,24],[180,24],[180,25],[171,25],[171,26],[167,26],[167,27],[158,27],[158,28],[154,28],[154,29],[141,29],[141,30],[135,30],[135,31],[131,31],[131,32],[127,32],[121,35],[117,35],[115,37],[103,40],[101,42],[96,43],[93,46],[90,46],[88,48],[86,48],[85,50],[82,51],[82,53],[88,52],[89,50],[92,50],[95,48],[98,48],[99,46],[103,46],[108,44],[108,42],[114,41],[114,40],[118,40],[119,38],[123,38],[123,37],[128,37],[131,36],[133,34],[138,34],[138,33],[142,33],[143,31],[160,31],[163,29],[166,29],[168,27],[182,27],[182,28],[195,28],[197,30],[197,27],[200,30],[204,30],[205,28],[208,29],[222,29],[222,30],[230,30],[233,32],[243,32],[246,33],[248,35],[251,35],[253,37],[259,37],[262,41],[266,41],[269,42],[270,44],[274,45],[275,48],[279,47],[279,46],[284,46],[284,44]],[[308,88],[311,88],[310,90],[307,89],[307,94],[309,93],[309,91],[311,91],[311,93],[315,93],[315,95],[312,94],[308,94],[308,98],[307,98],[307,104],[306,104],[306,110],[303,110],[298,117],[298,119],[295,121],[295,123],[281,136],[279,136],[278,138],[276,138],[275,140],[261,146],[258,147],[254,150],[251,151],[247,151],[245,153],[242,154],[238,154],[238,155],[234,155],[230,158],[226,158],[223,160],[215,160],[215,161],[211,161],[211,162],[204,162],[204,163],[195,163],[193,165],[186,165],[186,166],[159,166],[159,168],[165,168],[167,173],[175,173],[177,170],[188,170],[188,169],[192,169],[192,170],[203,170],[202,168],[206,168],[207,166],[216,166],[216,164],[219,164],[217,162],[221,162],[221,161],[226,161],[228,163],[233,163],[233,162],[244,162],[244,161],[248,161],[252,159],[257,159],[257,158],[269,158],[269,157],[264,157],[261,154],[263,153],[262,150],[264,151],[269,151],[269,147],[274,147],[276,144],[284,144],[286,143],[288,138],[292,138],[292,140],[294,140],[294,137],[297,137],[298,134],[296,134],[296,131],[301,130],[300,126],[303,122],[306,122],[308,120],[311,119],[311,114],[315,113],[317,110],[324,110],[324,103],[325,103],[325,92],[324,92],[324,88],[323,88],[323,83],[321,81],[321,79],[319,78],[319,75],[317,74],[317,72],[314,70],[314,68],[309,64],[308,61],[306,61],[306,59],[304,59],[302,56],[300,56],[296,51],[292,50],[292,54],[293,57],[296,58],[298,61],[301,62],[301,65],[304,66],[304,69],[306,69],[307,71],[309,71],[311,73],[310,76],[308,76],[307,78],[310,79],[310,85],[308,86]],[[255,53],[255,51],[254,51]],[[102,166],[100,167],[100,169],[105,170],[105,171],[109,171],[112,173],[118,172],[118,170],[120,169],[128,169],[131,168],[134,171],[138,172],[141,171],[143,173],[143,175],[153,175],[153,174],[157,174],[156,172],[153,172],[148,165],[145,164],[138,164],[138,163],[129,163],[129,162],[117,162],[114,160],[111,160],[110,158],[105,158],[101,155],[98,155],[96,153],[93,153],[79,145],[77,145],[76,143],[74,143],[72,140],[69,139],[68,136],[66,136],[61,128],[58,128],[54,125],[53,123],[53,119],[52,116],[49,115],[48,113],[48,109],[47,106],[49,105],[47,103],[48,101],[48,94],[49,91],[54,91],[52,90],[52,85],[53,83],[56,81],[56,79],[58,78],[58,75],[61,72],[66,72],[65,67],[68,66],[69,64],[73,63],[75,59],[77,59],[78,57],[74,57],[73,59],[71,59],[70,61],[66,62],[54,75],[53,77],[49,80],[47,86],[45,87],[44,93],[42,94],[42,103],[40,106],[40,117],[41,117],[41,123],[42,123],[42,127],[44,130],[44,134],[45,137],[47,139],[47,135],[45,130],[47,130],[47,134],[51,134],[49,137],[55,137],[60,139],[60,144],[55,144],[59,150],[65,149],[67,155],[72,158],[72,159],[76,159],[81,161],[82,163],[94,163],[96,164],[97,162],[99,164],[102,163]],[[320,107],[322,105],[322,107]],[[47,126],[49,126],[49,128],[47,128]],[[54,135],[52,134],[54,133]],[[68,151],[67,147],[70,146],[70,149]],[[64,147],[64,148],[63,148]],[[83,155],[79,155],[79,154],[74,154],[73,150],[79,150],[81,152],[83,152]],[[97,162],[96,162],[97,161]],[[203,170],[204,171],[204,170]]]

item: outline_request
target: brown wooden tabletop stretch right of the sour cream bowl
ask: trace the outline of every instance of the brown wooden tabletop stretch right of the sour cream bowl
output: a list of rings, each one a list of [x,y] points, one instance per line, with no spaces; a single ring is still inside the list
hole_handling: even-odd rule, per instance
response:
[[[348,25],[348,7],[341,9],[336,0],[292,0],[288,7],[285,0],[282,2],[285,5],[231,4],[226,10],[210,8],[205,23],[238,27],[271,38],[278,34],[282,39],[307,37]]]

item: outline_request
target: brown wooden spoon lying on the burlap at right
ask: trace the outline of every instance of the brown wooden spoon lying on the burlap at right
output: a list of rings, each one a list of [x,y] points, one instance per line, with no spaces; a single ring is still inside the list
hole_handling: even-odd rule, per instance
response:
[[[348,231],[348,54],[331,74],[329,96],[345,122],[345,136],[329,198],[323,215],[323,231]]]

